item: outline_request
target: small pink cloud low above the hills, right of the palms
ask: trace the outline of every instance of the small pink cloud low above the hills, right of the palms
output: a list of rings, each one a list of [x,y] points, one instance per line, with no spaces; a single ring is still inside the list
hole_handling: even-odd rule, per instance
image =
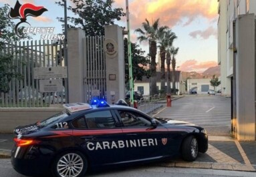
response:
[[[181,71],[197,71],[203,72],[209,67],[217,66],[217,61],[203,61],[199,62],[196,59],[189,59],[180,65]]]

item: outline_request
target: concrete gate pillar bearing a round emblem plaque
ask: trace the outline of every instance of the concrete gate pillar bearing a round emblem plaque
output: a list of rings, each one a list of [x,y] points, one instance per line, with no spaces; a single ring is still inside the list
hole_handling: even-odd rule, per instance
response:
[[[110,104],[124,99],[124,36],[118,25],[105,27],[107,101]]]

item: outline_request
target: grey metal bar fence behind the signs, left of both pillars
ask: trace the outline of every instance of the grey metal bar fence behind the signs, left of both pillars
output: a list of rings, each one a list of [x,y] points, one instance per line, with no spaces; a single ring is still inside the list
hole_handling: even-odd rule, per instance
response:
[[[2,46],[1,55],[11,55],[7,63],[9,71],[19,73],[22,79],[11,78],[7,84],[9,90],[0,92],[0,107],[27,108],[48,107],[51,104],[65,103],[67,79],[62,79],[62,92],[39,92],[39,79],[34,79],[34,67],[66,66],[62,41],[23,41],[6,43]],[[53,78],[56,79],[56,78]]]

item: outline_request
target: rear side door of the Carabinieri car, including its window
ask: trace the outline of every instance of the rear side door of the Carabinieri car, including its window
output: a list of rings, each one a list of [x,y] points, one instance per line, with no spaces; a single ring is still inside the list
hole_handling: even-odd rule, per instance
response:
[[[72,122],[75,142],[84,150],[92,165],[123,160],[122,129],[112,113],[110,109],[88,112]]]

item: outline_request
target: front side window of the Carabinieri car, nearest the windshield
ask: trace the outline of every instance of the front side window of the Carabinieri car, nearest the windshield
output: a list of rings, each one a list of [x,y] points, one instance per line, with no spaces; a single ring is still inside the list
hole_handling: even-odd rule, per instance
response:
[[[150,120],[144,118],[144,116],[138,112],[119,110],[118,113],[120,114],[124,127],[142,127],[151,125]]]

